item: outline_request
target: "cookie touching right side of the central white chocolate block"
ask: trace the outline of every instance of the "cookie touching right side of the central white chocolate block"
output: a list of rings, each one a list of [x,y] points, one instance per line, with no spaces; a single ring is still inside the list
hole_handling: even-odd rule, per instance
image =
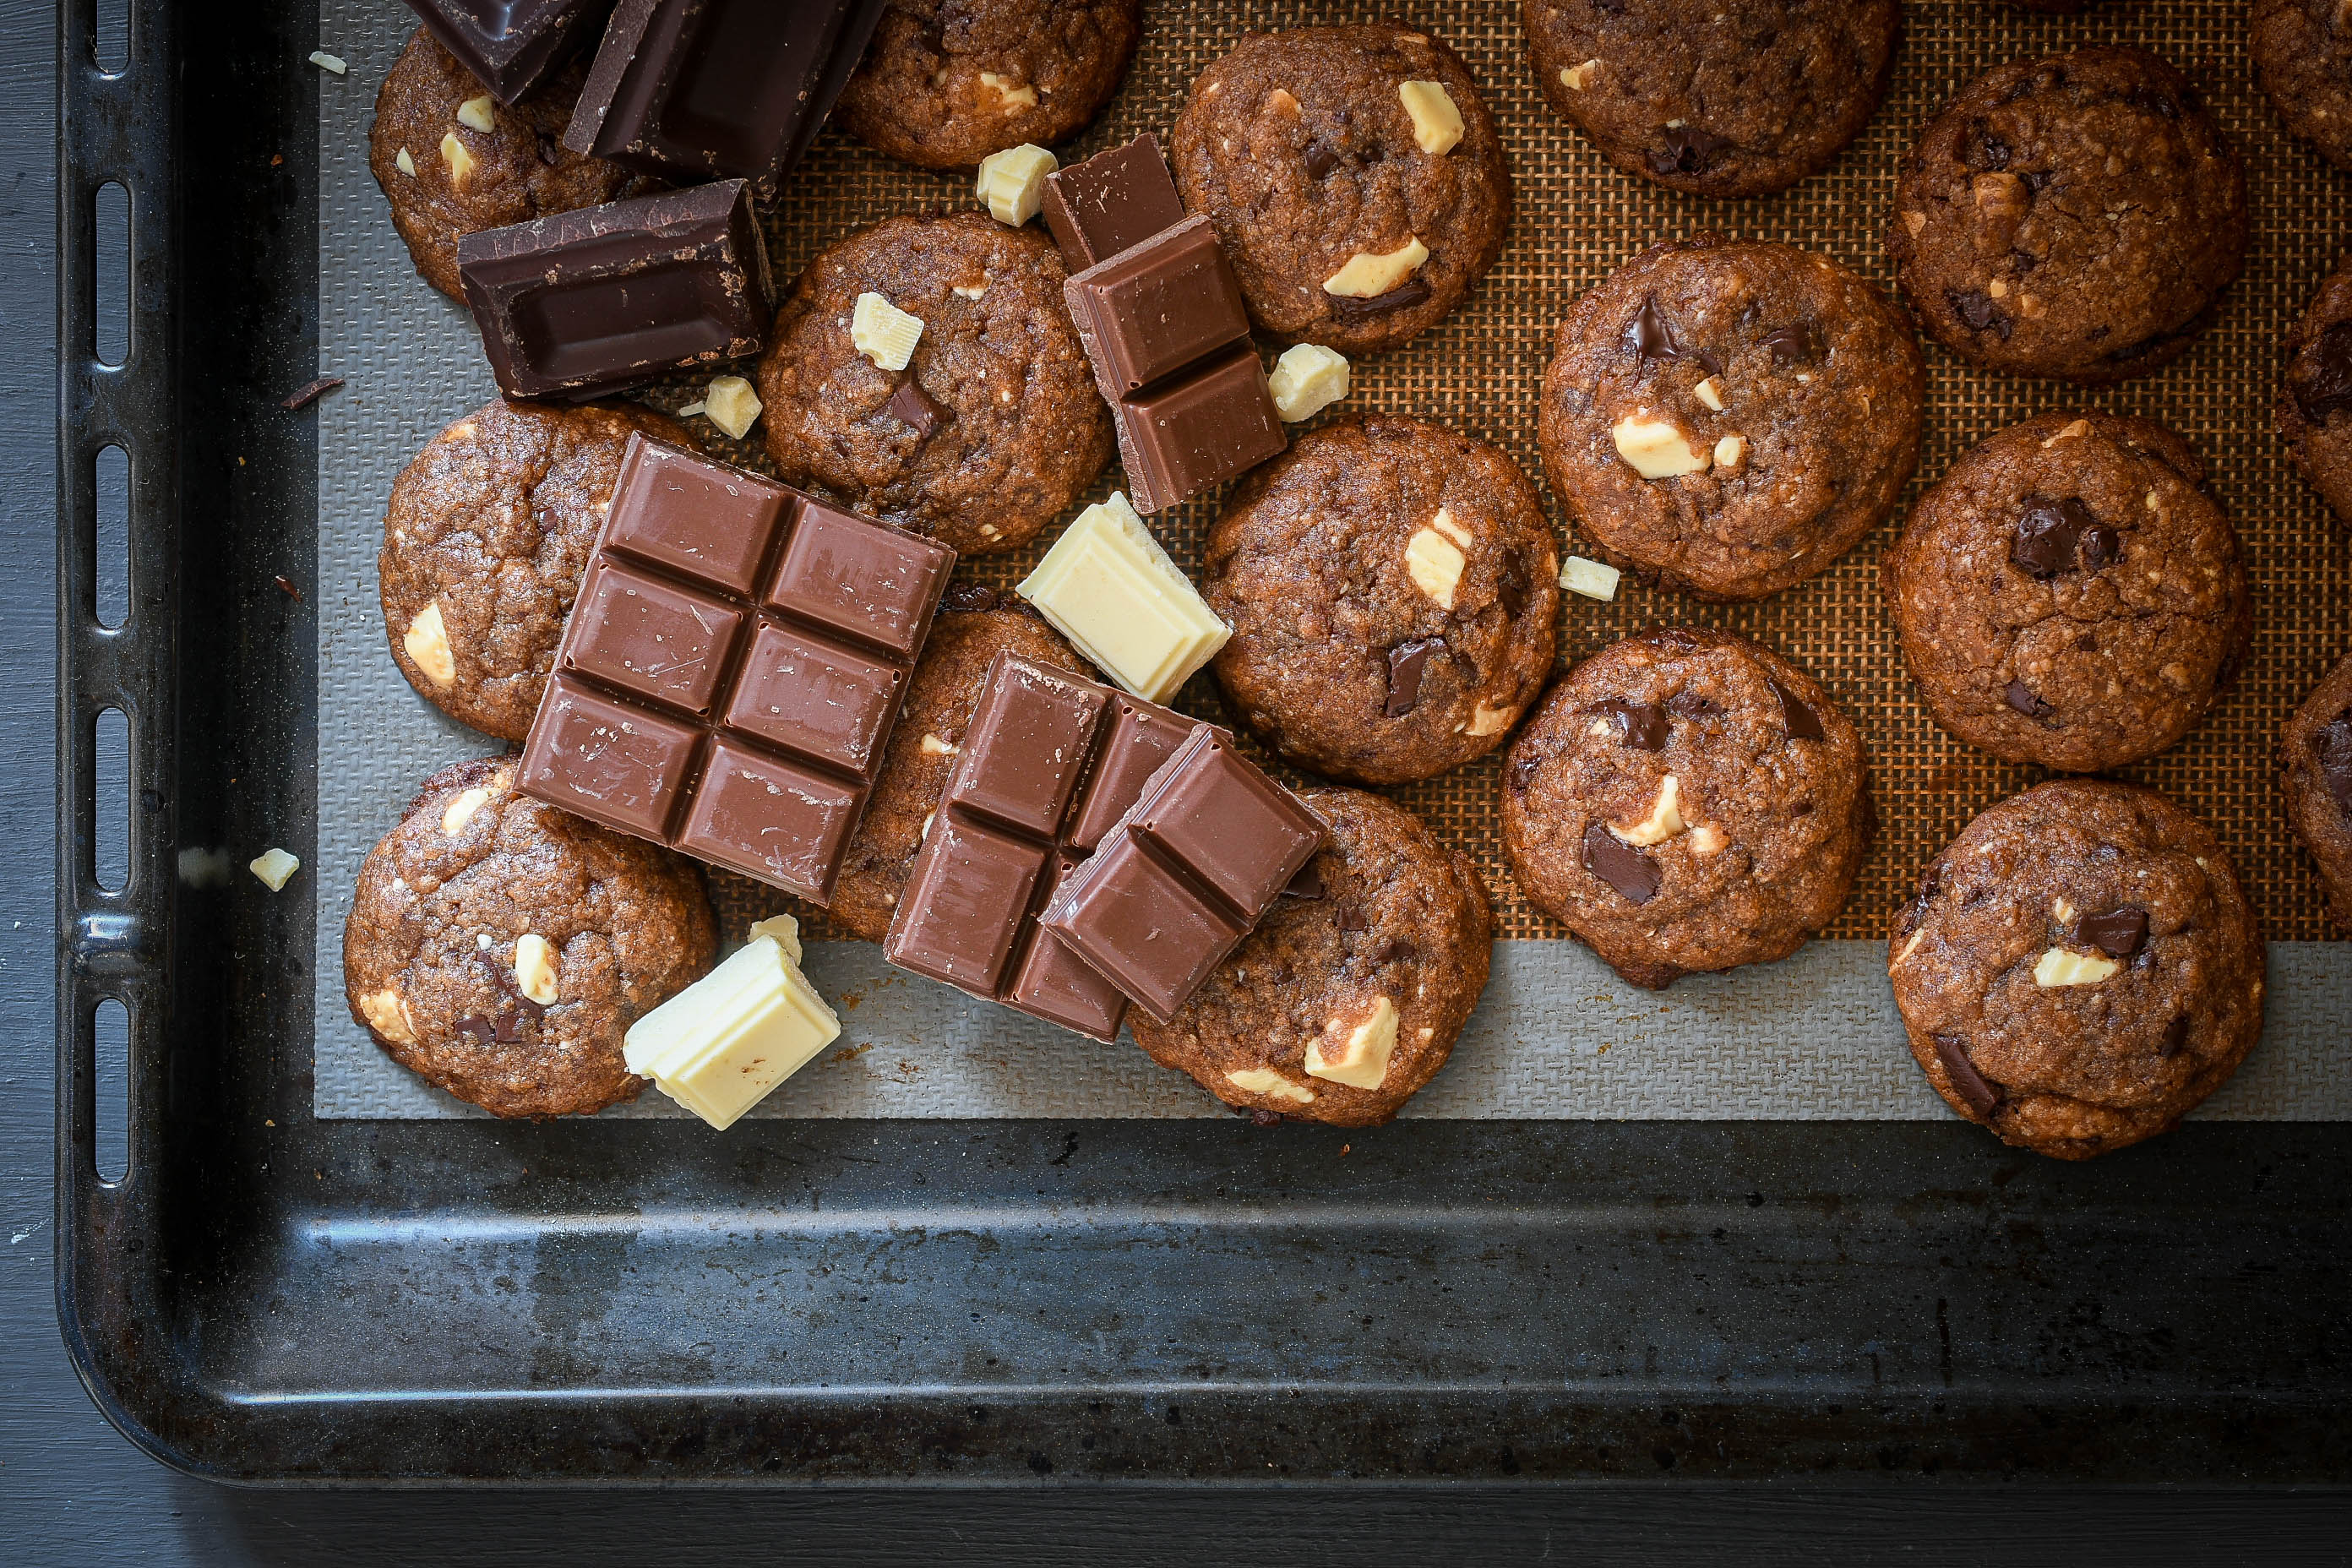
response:
[[[1503,743],[1552,670],[1559,552],[1486,442],[1343,418],[1249,475],[1209,534],[1216,679],[1298,766],[1388,785]]]

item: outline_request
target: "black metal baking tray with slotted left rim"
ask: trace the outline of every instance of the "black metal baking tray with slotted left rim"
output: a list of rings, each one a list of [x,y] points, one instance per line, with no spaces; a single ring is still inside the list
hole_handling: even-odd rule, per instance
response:
[[[310,1117],[310,5],[64,5],[59,1316],[238,1481],[2352,1476],[2352,1138],[1950,1124]],[[94,190],[132,355],[92,362]],[[92,616],[92,458],[132,614]],[[101,708],[132,877],[92,877]],[[242,858],[249,849],[240,849]],[[238,872],[242,877],[242,870]],[[92,1009],[129,1009],[94,1173]]]

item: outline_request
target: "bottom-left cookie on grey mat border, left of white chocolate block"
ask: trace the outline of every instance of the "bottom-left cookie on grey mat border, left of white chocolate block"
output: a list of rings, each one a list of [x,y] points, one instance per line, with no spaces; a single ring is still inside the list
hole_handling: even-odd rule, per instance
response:
[[[480,757],[428,778],[367,851],[343,994],[428,1084],[567,1117],[637,1098],[621,1037],[715,957],[694,865],[515,795],[513,757]]]

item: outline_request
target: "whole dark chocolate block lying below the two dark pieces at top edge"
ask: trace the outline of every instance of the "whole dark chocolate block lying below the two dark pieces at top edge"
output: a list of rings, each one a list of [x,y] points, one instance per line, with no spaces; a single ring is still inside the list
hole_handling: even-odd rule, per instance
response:
[[[767,339],[767,244],[739,179],[487,228],[456,263],[510,397],[595,397]]]

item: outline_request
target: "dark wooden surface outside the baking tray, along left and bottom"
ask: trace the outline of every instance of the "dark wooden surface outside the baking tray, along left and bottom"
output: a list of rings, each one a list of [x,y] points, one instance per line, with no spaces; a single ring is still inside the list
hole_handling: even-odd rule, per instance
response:
[[[0,7],[0,1563],[2352,1561],[2352,1507],[2321,1493],[459,1495],[226,1490],[153,1465],[75,1382],[49,1279],[52,52],[52,0]]]

